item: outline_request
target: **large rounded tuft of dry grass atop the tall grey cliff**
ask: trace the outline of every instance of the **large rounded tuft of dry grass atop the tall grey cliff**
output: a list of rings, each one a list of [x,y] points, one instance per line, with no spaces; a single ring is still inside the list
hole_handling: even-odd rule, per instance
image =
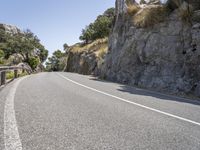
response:
[[[134,25],[137,27],[149,27],[165,20],[168,9],[163,5],[152,5],[142,8],[133,16]]]

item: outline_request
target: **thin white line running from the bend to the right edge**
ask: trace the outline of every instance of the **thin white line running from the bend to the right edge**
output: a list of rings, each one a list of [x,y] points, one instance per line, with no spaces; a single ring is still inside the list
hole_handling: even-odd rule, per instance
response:
[[[92,90],[92,91],[101,93],[101,94],[103,94],[103,95],[106,95],[106,96],[109,96],[109,97],[118,99],[118,100],[120,100],[120,101],[129,103],[129,104],[132,104],[132,105],[136,105],[136,106],[138,106],[138,107],[142,107],[142,108],[145,108],[145,109],[148,109],[148,110],[151,110],[151,111],[154,111],[154,112],[157,112],[157,113],[160,113],[160,114],[169,116],[169,117],[173,117],[173,118],[176,118],[176,119],[179,119],[179,120],[182,120],[182,121],[189,122],[189,123],[192,123],[192,124],[195,124],[195,125],[200,126],[200,123],[199,123],[199,122],[192,121],[192,120],[190,120],[190,119],[186,119],[186,118],[183,118],[183,117],[179,117],[179,116],[176,116],[176,115],[173,115],[173,114],[170,114],[170,113],[167,113],[167,112],[158,110],[158,109],[154,109],[154,108],[151,108],[151,107],[148,107],[148,106],[139,104],[139,103],[132,102],[132,101],[130,101],[130,100],[126,100],[126,99],[124,99],[124,98],[120,98],[120,97],[114,96],[114,95],[112,95],[112,94],[108,94],[108,93],[106,93],[106,92],[99,91],[99,90],[97,90],[97,89],[94,89],[94,88],[91,88],[91,87],[89,87],[89,86],[80,84],[80,83],[78,83],[78,82],[76,82],[76,81],[73,81],[73,80],[71,80],[71,79],[69,79],[69,78],[67,78],[67,77],[65,77],[65,76],[63,76],[63,75],[61,75],[60,73],[57,73],[57,74],[58,74],[60,77],[66,79],[66,80],[68,80],[68,81],[70,81],[70,82],[72,82],[72,83],[74,83],[74,84],[76,84],[76,85],[79,85],[79,86],[82,86],[82,87],[84,87],[84,88],[87,88],[87,89],[89,89],[89,90]]]

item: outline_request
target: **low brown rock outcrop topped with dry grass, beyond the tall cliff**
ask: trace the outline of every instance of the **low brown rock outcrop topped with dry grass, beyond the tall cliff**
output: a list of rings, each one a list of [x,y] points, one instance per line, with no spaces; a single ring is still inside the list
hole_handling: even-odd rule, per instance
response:
[[[107,39],[99,39],[87,45],[75,44],[69,47],[64,71],[84,75],[99,74],[107,53],[107,44]]]

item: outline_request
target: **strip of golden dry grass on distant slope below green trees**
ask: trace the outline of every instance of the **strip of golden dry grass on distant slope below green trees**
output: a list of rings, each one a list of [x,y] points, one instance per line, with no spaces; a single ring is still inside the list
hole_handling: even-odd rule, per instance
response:
[[[82,44],[75,44],[71,46],[70,50],[73,53],[81,53],[81,52],[87,52],[87,53],[95,53],[97,57],[103,57],[108,50],[108,38],[104,39],[98,39],[94,42],[86,45]]]

